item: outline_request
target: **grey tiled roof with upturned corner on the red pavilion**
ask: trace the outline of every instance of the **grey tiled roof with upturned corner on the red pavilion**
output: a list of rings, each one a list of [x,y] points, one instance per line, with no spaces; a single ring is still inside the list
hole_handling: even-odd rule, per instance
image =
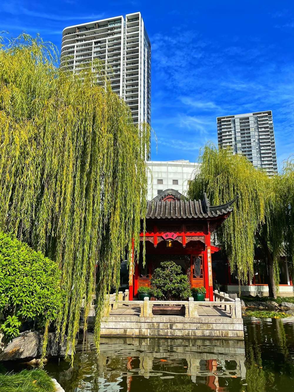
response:
[[[172,191],[172,192],[171,192]],[[166,196],[177,198],[172,201],[162,201]],[[206,193],[203,200],[187,200],[185,196],[174,189],[163,191],[153,200],[147,201],[146,219],[160,218],[217,218],[232,212],[232,203],[238,198],[222,205],[210,205]]]

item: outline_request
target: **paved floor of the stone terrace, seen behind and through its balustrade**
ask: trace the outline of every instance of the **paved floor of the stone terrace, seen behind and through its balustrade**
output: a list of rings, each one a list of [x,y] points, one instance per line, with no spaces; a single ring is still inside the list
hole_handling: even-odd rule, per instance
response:
[[[140,307],[136,305],[123,304],[122,306],[118,306],[117,309],[111,310],[110,316],[140,316]],[[207,306],[200,305],[198,307],[198,316],[199,317],[227,317],[227,318],[231,317],[230,312],[227,312],[226,310],[220,309],[219,307],[216,306],[210,307],[208,305]],[[154,315],[153,317],[161,318],[162,316]],[[185,316],[177,316],[177,317],[185,318]]]

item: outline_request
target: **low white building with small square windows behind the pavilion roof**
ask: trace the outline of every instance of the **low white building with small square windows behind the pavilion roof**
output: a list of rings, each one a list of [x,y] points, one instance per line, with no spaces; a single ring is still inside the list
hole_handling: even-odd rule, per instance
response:
[[[189,180],[198,163],[186,160],[178,161],[149,161],[148,171],[148,196],[152,200],[165,189],[175,189],[186,195]],[[153,189],[152,189],[153,187]]]

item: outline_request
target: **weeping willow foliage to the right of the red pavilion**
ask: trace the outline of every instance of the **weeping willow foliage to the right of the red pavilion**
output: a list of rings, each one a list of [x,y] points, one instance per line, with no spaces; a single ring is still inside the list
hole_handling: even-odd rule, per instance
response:
[[[287,253],[290,273],[294,260],[294,164],[284,162],[280,174],[267,176],[245,156],[232,155],[208,143],[201,149],[199,169],[189,185],[189,197],[207,192],[214,205],[240,197],[234,212],[218,230],[218,240],[241,283],[253,276],[254,247],[265,254],[269,296],[276,298],[281,251]]]

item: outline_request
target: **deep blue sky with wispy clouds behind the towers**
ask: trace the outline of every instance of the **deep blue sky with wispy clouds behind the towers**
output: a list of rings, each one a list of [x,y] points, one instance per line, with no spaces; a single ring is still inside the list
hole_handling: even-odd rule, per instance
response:
[[[100,5],[101,4],[101,5]],[[140,11],[151,41],[152,160],[198,157],[216,117],[272,110],[278,163],[294,152],[294,2],[2,0],[0,30],[40,33]]]

